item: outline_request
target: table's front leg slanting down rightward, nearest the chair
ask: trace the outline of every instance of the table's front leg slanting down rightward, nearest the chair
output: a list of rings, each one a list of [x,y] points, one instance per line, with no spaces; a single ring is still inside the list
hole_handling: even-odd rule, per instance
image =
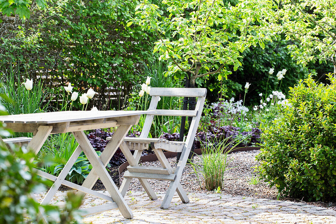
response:
[[[127,130],[127,132],[128,132],[128,130]],[[98,177],[100,178],[101,182],[103,183],[103,185],[105,186],[105,188],[109,192],[109,194],[111,195],[112,199],[117,203],[118,209],[120,210],[121,214],[127,219],[132,219],[133,218],[132,211],[127,206],[126,201],[124,200],[124,197],[121,195],[121,193],[119,192],[119,189],[117,188],[117,186],[113,182],[112,178],[110,177],[109,173],[105,169],[106,165],[98,157],[97,153],[94,151],[92,145],[90,144],[90,142],[87,139],[84,132],[79,131],[79,132],[74,132],[73,134],[74,134],[74,137],[76,138],[77,142],[81,146],[83,152],[87,156],[88,160],[90,161],[91,165],[93,166],[93,170],[95,171],[97,178]],[[122,139],[120,141],[122,141]],[[105,152],[105,150],[103,152]],[[103,154],[101,154],[101,155],[103,155]],[[91,172],[92,172],[92,170],[91,170]]]

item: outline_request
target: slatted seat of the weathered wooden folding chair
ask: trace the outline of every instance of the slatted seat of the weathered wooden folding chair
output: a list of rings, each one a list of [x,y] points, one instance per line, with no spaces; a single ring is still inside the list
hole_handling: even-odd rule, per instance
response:
[[[168,152],[182,152],[184,147],[184,142],[175,142],[168,141],[167,139],[159,139],[159,138],[132,138],[126,137],[124,141],[131,146],[129,143],[148,143],[151,144],[151,147],[154,149],[163,149]],[[138,147],[137,147],[138,148]],[[133,147],[132,147],[133,149]],[[135,147],[133,150],[137,150]]]

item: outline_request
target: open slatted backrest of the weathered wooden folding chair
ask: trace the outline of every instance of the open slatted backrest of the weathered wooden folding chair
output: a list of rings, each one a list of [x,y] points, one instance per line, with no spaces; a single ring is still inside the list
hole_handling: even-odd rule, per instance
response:
[[[190,124],[190,130],[186,138],[186,142],[190,138],[194,139],[202,115],[206,94],[206,88],[151,88],[149,95],[152,96],[152,100],[148,110],[152,110],[154,112],[147,113],[140,138],[147,138],[150,128],[152,126],[153,118],[155,115],[158,115],[193,117]],[[197,102],[195,110],[160,110],[157,109],[160,97],[197,97]]]

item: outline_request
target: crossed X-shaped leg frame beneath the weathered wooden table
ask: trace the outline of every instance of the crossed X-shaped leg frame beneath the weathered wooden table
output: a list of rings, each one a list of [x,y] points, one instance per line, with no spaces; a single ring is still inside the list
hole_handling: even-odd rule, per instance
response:
[[[62,169],[59,176],[55,177],[42,171],[36,170],[38,175],[54,181],[54,184],[48,191],[45,198],[42,200],[42,204],[48,204],[52,199],[52,197],[54,196],[54,194],[56,193],[58,187],[61,184],[64,184],[66,186],[81,191],[78,193],[83,197],[85,197],[86,194],[89,193],[93,196],[97,196],[111,202],[107,204],[102,204],[100,206],[83,209],[89,211],[89,213],[91,214],[118,208],[125,218],[128,219],[133,218],[133,214],[129,209],[129,207],[127,206],[126,201],[124,200],[123,196],[119,192],[119,189],[114,184],[112,178],[110,177],[109,173],[106,170],[106,165],[109,163],[110,159],[118,149],[120,143],[128,133],[131,126],[132,125],[120,125],[117,128],[116,132],[114,133],[112,139],[104,149],[104,151],[101,153],[100,157],[98,157],[97,153],[93,149],[92,145],[90,144],[89,140],[87,139],[83,131],[73,132],[72,134],[79,143],[79,146],[76,148],[75,152],[73,153],[73,155],[71,156],[65,167]],[[37,154],[38,151],[41,149],[43,143],[46,141],[47,137],[50,135],[51,130],[52,126],[40,126],[38,128],[38,132],[33,137],[31,142],[28,144],[27,148],[32,149],[35,152],[35,154]],[[88,177],[85,179],[82,186],[80,186],[77,184],[73,184],[69,181],[66,181],[65,177],[69,173],[71,167],[73,166],[73,164],[75,163],[75,161],[77,160],[78,156],[82,151],[87,156],[93,169],[91,170]],[[98,178],[100,178],[101,182],[106,187],[110,196],[103,195],[101,193],[91,190]],[[58,205],[62,206],[64,205],[64,203],[59,203]]]

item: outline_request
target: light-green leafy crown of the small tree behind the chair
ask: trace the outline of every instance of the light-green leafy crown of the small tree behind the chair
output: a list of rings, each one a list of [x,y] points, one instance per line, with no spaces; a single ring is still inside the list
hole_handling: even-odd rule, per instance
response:
[[[273,15],[266,0],[240,1],[236,6],[223,0],[164,0],[168,16],[155,4],[143,0],[136,9],[140,16],[128,23],[158,36],[154,52],[168,61],[168,74],[190,73],[190,87],[202,76],[216,73],[218,79],[236,71],[247,47],[270,41],[267,18]]]

